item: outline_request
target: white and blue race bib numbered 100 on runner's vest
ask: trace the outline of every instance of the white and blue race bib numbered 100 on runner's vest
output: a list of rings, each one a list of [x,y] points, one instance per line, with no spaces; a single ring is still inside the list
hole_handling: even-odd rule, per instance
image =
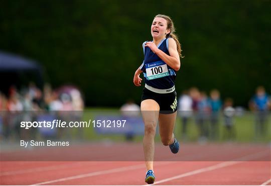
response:
[[[164,61],[156,61],[146,64],[147,79],[157,79],[169,75],[167,64]]]

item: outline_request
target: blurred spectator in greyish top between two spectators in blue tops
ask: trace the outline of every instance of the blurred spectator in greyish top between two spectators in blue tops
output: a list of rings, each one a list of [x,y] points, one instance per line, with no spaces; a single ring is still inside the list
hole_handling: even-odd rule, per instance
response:
[[[235,115],[235,109],[232,107],[233,101],[231,98],[227,98],[224,103],[224,133],[223,139],[233,140],[235,138],[235,130],[233,127],[233,116]]]

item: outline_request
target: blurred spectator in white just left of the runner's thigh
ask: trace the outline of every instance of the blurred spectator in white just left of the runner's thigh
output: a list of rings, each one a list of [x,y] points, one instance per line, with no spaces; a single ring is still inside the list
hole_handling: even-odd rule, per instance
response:
[[[127,102],[120,107],[121,115],[124,117],[137,117],[140,115],[140,106],[135,104],[132,100],[127,100]],[[125,135],[127,141],[132,141],[134,134],[131,132]]]

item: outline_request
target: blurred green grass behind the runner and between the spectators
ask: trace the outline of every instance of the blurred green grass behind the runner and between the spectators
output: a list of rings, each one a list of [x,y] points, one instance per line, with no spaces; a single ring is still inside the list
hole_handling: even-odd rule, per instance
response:
[[[110,114],[110,115],[119,115],[117,109],[114,108],[88,108],[83,114],[83,121],[87,121],[90,118],[95,118],[95,115],[99,114]],[[235,137],[232,139],[225,139],[225,126],[223,124],[223,116],[220,114],[219,124],[218,124],[218,135],[215,141],[224,142],[224,141],[236,141],[236,142],[270,142],[271,141],[271,117],[270,113],[268,115],[268,119],[265,125],[265,136],[255,137],[255,117],[251,112],[245,112],[242,116],[235,116],[234,118],[234,126],[233,129],[235,131]],[[86,140],[117,140],[124,141],[125,136],[121,134],[113,134],[113,135],[104,135],[97,134],[93,127],[84,128],[83,129],[83,138]],[[197,124],[195,123],[195,119],[192,117],[188,121],[187,125],[187,134],[186,138],[182,136],[182,124],[181,119],[177,117],[176,125],[175,125],[175,136],[178,139],[183,139],[185,141],[198,141],[199,139],[199,129]],[[143,136],[138,135],[134,136],[134,141],[142,141]],[[160,137],[157,134],[156,140],[159,141]]]

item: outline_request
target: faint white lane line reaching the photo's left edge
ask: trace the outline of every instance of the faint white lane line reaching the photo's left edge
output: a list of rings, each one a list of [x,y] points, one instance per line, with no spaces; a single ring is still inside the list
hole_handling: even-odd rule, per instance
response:
[[[62,165],[52,165],[52,166],[45,166],[45,167],[29,168],[29,169],[23,169],[23,170],[0,172],[0,175],[1,176],[3,176],[3,175],[16,175],[16,174],[24,174],[24,173],[31,173],[31,172],[55,170],[55,169],[60,169],[60,168],[68,168],[68,167],[71,167],[71,166],[76,165],[78,163],[79,162],[62,164]]]

